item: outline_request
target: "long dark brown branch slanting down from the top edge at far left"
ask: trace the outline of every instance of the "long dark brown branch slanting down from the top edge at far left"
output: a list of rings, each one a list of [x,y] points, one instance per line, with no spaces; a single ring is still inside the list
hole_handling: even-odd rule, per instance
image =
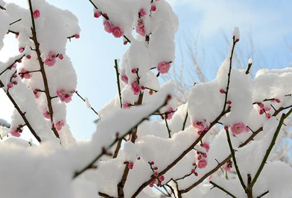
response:
[[[53,123],[53,114],[54,114],[54,112],[53,112],[53,106],[52,106],[52,99],[51,99],[51,96],[50,96],[50,90],[49,90],[49,85],[48,85],[48,80],[47,80],[47,75],[46,75],[44,63],[42,62],[42,59],[41,59],[41,52],[40,52],[40,49],[39,49],[39,43],[37,41],[37,32],[36,32],[36,24],[35,24],[32,1],[28,0],[28,2],[29,2],[29,9],[30,9],[32,25],[33,25],[33,27],[31,28],[33,37],[31,39],[34,41],[34,44],[36,46],[37,59],[38,59],[38,63],[39,63],[39,66],[40,66],[40,72],[41,72],[43,83],[44,83],[44,87],[45,87],[45,94],[46,94],[46,98],[47,98],[49,114],[50,114],[51,122]],[[60,139],[59,133],[57,132],[55,126],[52,126],[52,130],[53,130],[55,136]]]

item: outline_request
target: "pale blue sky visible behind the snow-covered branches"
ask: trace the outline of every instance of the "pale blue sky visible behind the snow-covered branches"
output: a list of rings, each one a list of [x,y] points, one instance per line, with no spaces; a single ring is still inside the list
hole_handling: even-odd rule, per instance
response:
[[[47,0],[62,9],[72,11],[79,19],[81,37],[68,43],[67,53],[77,72],[77,90],[88,97],[91,105],[99,110],[116,93],[114,59],[121,58],[127,46],[103,30],[102,19],[93,17],[93,8],[87,0]],[[26,6],[24,0],[6,0]],[[205,73],[208,79],[216,75],[216,69],[227,53],[228,45],[223,34],[230,36],[239,27],[239,48],[250,51],[250,37],[255,51],[254,64],[259,67],[282,68],[292,66],[292,1],[290,0],[169,0],[180,20],[176,36],[177,59],[181,65],[179,48],[186,50],[185,42],[192,36],[198,39],[199,56],[205,50]],[[11,43],[13,38],[7,38]],[[289,48],[290,45],[290,48]],[[17,52],[17,46],[4,47],[0,60]],[[201,50],[200,50],[201,49]],[[185,64],[190,61],[184,54]],[[247,60],[246,60],[247,62]],[[215,69],[214,69],[215,68]],[[8,119],[12,106],[0,97],[0,117]],[[3,108],[2,108],[3,109]],[[77,139],[89,139],[95,131],[96,115],[86,105],[73,97],[68,105],[67,120]]]

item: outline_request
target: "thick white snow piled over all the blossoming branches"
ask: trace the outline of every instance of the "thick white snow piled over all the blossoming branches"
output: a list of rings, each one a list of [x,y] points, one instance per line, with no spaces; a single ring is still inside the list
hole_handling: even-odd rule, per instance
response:
[[[12,115],[10,128],[0,126],[0,175],[4,178],[0,181],[1,197],[95,198],[98,192],[118,197],[117,185],[123,178],[128,162],[133,163],[133,168],[129,169],[124,186],[126,198],[131,197],[144,182],[151,181],[155,171],[161,173],[167,170],[164,171],[162,184],[180,179],[178,186],[182,190],[205,178],[205,175],[218,166],[218,163],[230,156],[226,132],[222,128],[231,127],[235,123],[243,123],[253,131],[263,128],[263,131],[244,147],[242,144],[251,137],[252,132],[231,135],[233,148],[237,150],[238,166],[245,183],[247,174],[254,177],[271,144],[280,116],[266,118],[266,113],[273,115],[274,109],[266,110],[265,114],[260,115],[258,103],[262,103],[265,107],[270,107],[272,104],[275,109],[292,105],[290,96],[292,69],[290,67],[261,69],[252,79],[244,70],[232,66],[230,57],[233,46],[231,46],[229,54],[219,67],[216,78],[210,82],[196,84],[191,88],[187,102],[178,106],[175,99],[175,84],[171,81],[161,84],[159,78],[163,74],[158,74],[156,69],[162,62],[169,63],[171,66],[175,60],[174,38],[179,23],[171,6],[165,0],[153,2],[92,0],[92,2],[97,6],[93,11],[106,14],[113,26],[123,30],[130,44],[119,61],[121,68],[118,68],[120,78],[124,77],[124,81],[121,82],[123,108],[120,107],[117,93],[98,112],[101,119],[91,140],[86,141],[75,140],[70,132],[70,126],[66,123],[66,102],[69,102],[77,86],[77,75],[70,57],[66,54],[66,44],[68,37],[73,40],[78,37],[74,35],[80,34],[78,19],[73,13],[56,8],[45,0],[32,0],[33,11],[40,11],[40,16],[34,19],[39,43],[40,57],[38,57],[34,50],[36,46],[30,39],[33,35],[30,10],[13,3],[5,4],[5,11],[0,10],[0,49],[8,28],[19,33],[18,47],[24,49],[17,56],[10,57],[7,62],[0,63],[2,72],[15,60],[24,56],[21,63],[16,64],[16,68],[7,69],[0,76],[0,81],[4,85],[2,89],[16,101],[41,139],[41,143],[37,143],[35,139],[26,140],[23,136],[20,138],[12,136],[11,132],[19,125],[25,124],[17,110]],[[4,5],[2,0],[0,5]],[[150,11],[151,6],[156,6],[156,10]],[[141,14],[139,15],[140,9],[145,9],[146,15],[143,18]],[[9,23],[19,18],[21,21],[9,26]],[[133,33],[133,29],[137,28],[138,19],[144,20],[146,36]],[[240,39],[239,34],[239,29],[235,28],[233,33],[235,43]],[[125,37],[123,40],[125,41]],[[43,66],[48,82],[47,88],[44,84],[44,75],[39,69],[42,68],[40,67],[42,62],[53,58],[55,58],[53,65]],[[248,63],[251,64],[252,60],[249,59]],[[227,95],[229,104],[223,109],[226,95],[220,93],[220,90],[227,91],[230,66],[232,69]],[[22,69],[30,72],[31,78],[21,79],[19,75],[13,77]],[[126,76],[128,83],[125,81]],[[8,88],[7,84],[11,82],[14,82],[14,86]],[[136,82],[139,88],[137,93],[133,91],[132,82]],[[36,89],[39,92],[34,95],[33,91]],[[62,102],[57,94],[60,89],[65,90],[64,95],[69,98],[65,102]],[[50,111],[45,91],[50,92],[52,120],[43,115]],[[278,99],[279,102],[264,101],[265,99]],[[87,108],[91,108],[87,98],[85,103]],[[208,130],[207,134],[200,136],[193,123],[201,122],[209,126],[228,106],[231,107],[231,111],[222,116],[219,123]],[[172,118],[166,120],[171,137],[168,135],[165,120],[162,119],[170,108],[175,111]],[[55,126],[59,121],[64,121],[64,126],[58,130],[60,139],[55,137],[51,129],[52,125]],[[129,141],[133,129],[137,129],[135,142]],[[29,130],[25,129],[25,132]],[[118,139],[122,137],[125,139],[122,140],[115,159],[112,156],[102,155],[104,151],[108,154],[113,153]],[[202,137],[201,141],[194,149],[185,152],[199,137]],[[203,148],[203,144],[210,144],[210,150]],[[200,152],[207,154],[205,158],[207,165],[204,168],[196,168],[194,165],[194,163],[198,165]],[[98,157],[100,155],[101,157]],[[168,168],[179,156],[183,156],[182,160]],[[269,190],[267,197],[289,198],[292,194],[290,187],[292,168],[282,162],[272,162],[271,159],[268,158],[254,186],[254,196]],[[149,165],[150,162],[154,162],[153,167]],[[74,177],[76,172],[90,164],[93,166]],[[194,169],[198,176],[192,174],[181,179]],[[225,180],[218,176],[217,172],[211,180],[228,189],[236,197],[245,197],[237,177]],[[176,189],[174,183],[171,185]],[[211,187],[212,185],[204,180],[196,188],[183,194],[183,197],[226,197],[218,188],[210,190]],[[138,197],[154,198],[159,195],[147,186]]]

